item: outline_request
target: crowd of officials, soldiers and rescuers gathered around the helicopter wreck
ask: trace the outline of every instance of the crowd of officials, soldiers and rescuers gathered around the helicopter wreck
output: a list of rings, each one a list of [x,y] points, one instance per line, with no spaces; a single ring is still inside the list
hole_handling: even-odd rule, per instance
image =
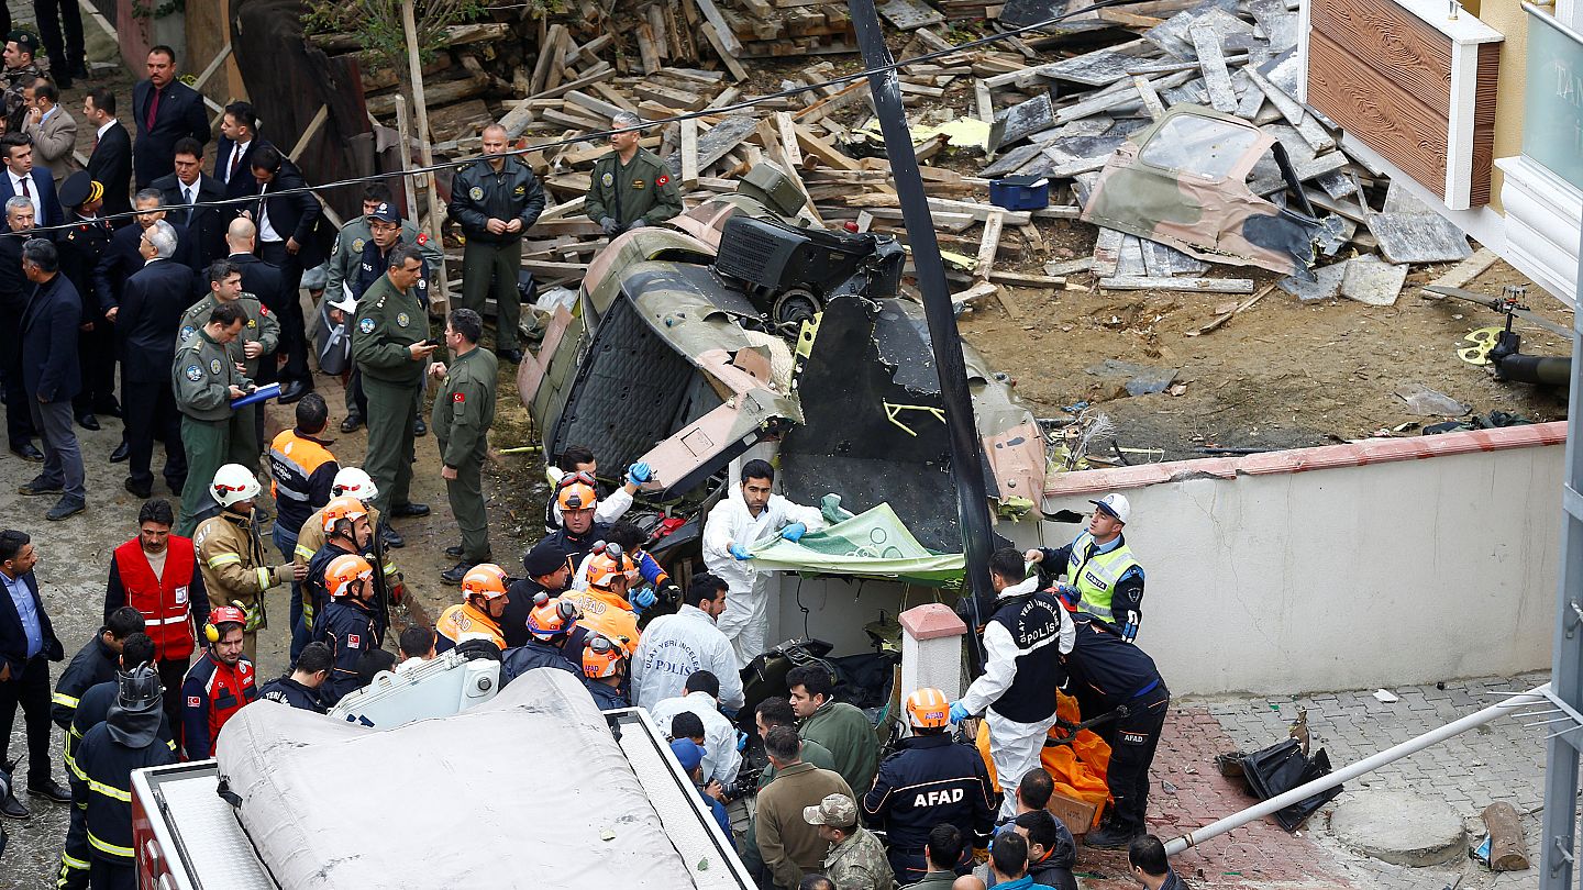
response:
[[[483,157],[453,182],[464,280],[443,337],[432,337],[427,287],[443,257],[386,185],[369,184],[364,214],[331,236],[301,171],[258,135],[245,101],[225,108],[204,169],[207,112],[163,46],[131,90],[131,131],[112,92],[85,95],[81,114],[95,136],[79,169],[63,78],[41,71],[36,52],[30,33],[11,32],[0,76],[8,445],[40,464],[21,494],[55,496],[44,519],[66,519],[87,508],[74,428],[119,416],[125,432],[109,461],[127,462],[123,485],[141,500],[135,535],[109,561],[103,627],[54,692],[49,662],[65,649],[33,573],[36,545],[27,532],[0,532],[0,763],[16,766],[5,751],[21,708],[27,793],[74,804],[60,887],[135,887],[133,770],[211,757],[226,721],[261,698],[328,713],[382,670],[412,670],[478,641],[500,651],[502,683],[562,670],[598,708],[646,708],[723,836],[763,885],[784,888],[1075,887],[1073,835],[1045,809],[1051,778],[1038,762],[1056,689],[1069,686],[1084,713],[1119,714],[1107,730],[1113,816],[1088,842],[1127,849],[1151,888],[1179,885],[1143,831],[1170,695],[1133,643],[1143,572],[1121,537],[1126,499],[1095,502],[1089,531],[1065,548],[994,554],[983,676],[956,702],[912,690],[909,732],[893,754],[880,757],[869,714],[836,700],[823,667],[803,665],[785,697],[752,705],[766,763],[744,781],[742,673],[766,651],[769,627],[769,573],[754,551],[820,531],[825,515],[774,494],[771,464],[746,461],[704,521],[708,570],[682,589],[644,550],[647,535],[624,521],[651,467],[636,462],[619,488],[603,489],[595,451],[571,447],[556,456],[546,535],[522,557],[522,575],[495,562],[483,461],[499,361],[522,359],[522,238],[545,206],[533,173],[507,155],[505,130],[486,127]],[[613,124],[621,131],[586,203],[609,236],[682,209],[663,162],[638,144],[641,120],[619,114]],[[339,428],[367,426],[356,464],[326,435],[332,418],[309,363],[304,288],[347,363]],[[489,296],[499,310],[492,350],[481,345]],[[329,353],[312,352],[323,369]],[[269,399],[291,405],[294,423],[266,442]],[[413,442],[429,431],[459,538],[440,578],[461,594],[432,627],[393,633],[389,607],[407,595],[393,557],[405,540],[393,523],[429,513],[412,499]],[[154,496],[157,445],[174,504]],[[1029,578],[1029,564],[1059,567],[1070,583]],[[290,589],[290,670],[266,681],[255,657],[269,629],[266,594],[277,588]],[[951,738],[980,714],[1008,793],[977,751]],[[51,763],[51,724],[66,740],[65,785]],[[755,816],[733,831],[725,804],[749,795]],[[25,819],[28,809],[9,793],[0,816]],[[986,844],[975,874],[974,850]]]

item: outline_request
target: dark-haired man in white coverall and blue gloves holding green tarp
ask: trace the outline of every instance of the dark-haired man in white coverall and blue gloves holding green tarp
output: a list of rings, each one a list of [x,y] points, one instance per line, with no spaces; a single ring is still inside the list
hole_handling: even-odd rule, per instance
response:
[[[741,670],[765,651],[769,630],[769,573],[754,569],[749,550],[774,535],[799,540],[825,527],[817,507],[792,504],[771,494],[776,470],[766,461],[747,461],[742,483],[709,510],[703,526],[703,561],[730,586],[725,613],[716,627],[731,641]]]

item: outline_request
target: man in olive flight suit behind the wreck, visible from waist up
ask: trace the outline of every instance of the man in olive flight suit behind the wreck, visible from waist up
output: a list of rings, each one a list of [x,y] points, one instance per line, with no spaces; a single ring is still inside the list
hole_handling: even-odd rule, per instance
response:
[[[632,112],[611,119],[614,127],[636,127]],[[654,152],[640,147],[643,130],[611,133],[616,150],[594,163],[594,179],[583,206],[605,234],[614,238],[630,228],[665,222],[682,212],[682,195],[671,182],[671,168]]]

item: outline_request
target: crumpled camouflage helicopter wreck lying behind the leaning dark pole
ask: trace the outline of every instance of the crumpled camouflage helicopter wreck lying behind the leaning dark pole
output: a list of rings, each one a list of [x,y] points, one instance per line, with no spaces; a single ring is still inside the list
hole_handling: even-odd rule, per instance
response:
[[[959,553],[929,334],[901,293],[905,250],[804,225],[801,206],[763,163],[735,195],[595,257],[576,304],[556,309],[518,369],[545,453],[592,443],[605,466],[646,461],[651,510],[638,519],[657,553],[695,545],[728,464],[761,442],[793,500],[888,505],[918,545]],[[962,348],[993,505],[1032,512],[1045,437],[1010,378]]]

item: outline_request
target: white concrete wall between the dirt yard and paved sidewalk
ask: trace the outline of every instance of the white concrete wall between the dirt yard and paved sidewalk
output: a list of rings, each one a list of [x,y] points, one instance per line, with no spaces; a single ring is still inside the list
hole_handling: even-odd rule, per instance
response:
[[[1133,510],[1127,540],[1148,573],[1138,643],[1176,694],[1296,694],[1543,668],[1562,451],[1534,445],[1122,486]],[[1053,496],[1045,510],[1089,510],[1099,494]],[[1078,527],[997,531],[1019,543],[1042,532],[1059,546]],[[912,588],[904,607],[898,584],[799,588],[796,578],[780,591],[771,640],[803,635],[801,599],[809,632],[836,643],[834,654],[869,651],[863,624],[879,610],[894,616],[936,595]]]

